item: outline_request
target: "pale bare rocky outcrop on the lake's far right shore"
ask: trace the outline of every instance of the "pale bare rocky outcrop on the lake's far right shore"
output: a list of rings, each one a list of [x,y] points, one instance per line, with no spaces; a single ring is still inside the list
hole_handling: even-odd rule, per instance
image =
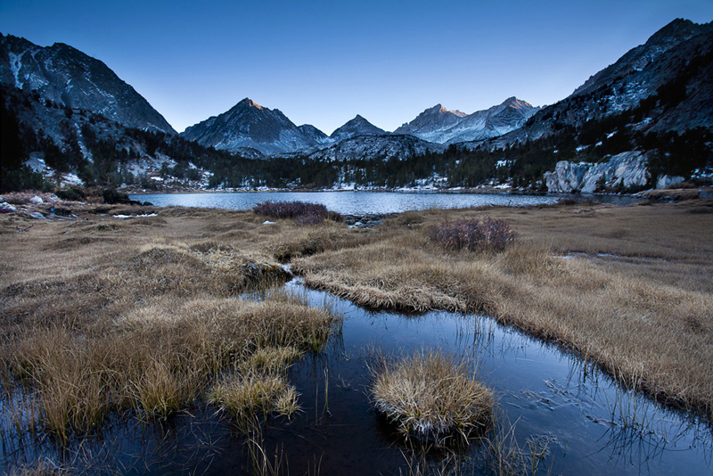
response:
[[[552,193],[592,193],[598,188],[644,186],[649,176],[644,153],[622,152],[599,164],[557,162],[553,172],[545,172],[545,185]]]

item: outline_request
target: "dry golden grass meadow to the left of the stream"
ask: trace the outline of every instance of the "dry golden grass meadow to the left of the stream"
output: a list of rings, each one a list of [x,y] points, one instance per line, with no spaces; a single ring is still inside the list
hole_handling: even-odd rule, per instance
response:
[[[155,222],[89,214],[27,232],[4,217],[0,368],[9,393],[15,382],[31,390],[20,431],[66,440],[117,410],[166,416],[205,398],[225,371],[278,378],[324,346],[328,311],[284,292],[236,298],[289,277],[271,251],[285,235],[304,240],[332,223],[299,230],[248,212],[164,211]],[[283,393],[275,408],[289,413],[296,394]]]

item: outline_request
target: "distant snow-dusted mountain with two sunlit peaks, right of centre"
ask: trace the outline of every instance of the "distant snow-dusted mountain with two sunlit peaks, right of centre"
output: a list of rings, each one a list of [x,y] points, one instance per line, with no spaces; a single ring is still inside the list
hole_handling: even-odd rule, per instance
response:
[[[480,141],[507,134],[525,124],[539,108],[510,97],[485,111],[465,114],[448,111],[437,104],[419,114],[416,119],[398,127],[395,134],[415,135],[438,144]]]

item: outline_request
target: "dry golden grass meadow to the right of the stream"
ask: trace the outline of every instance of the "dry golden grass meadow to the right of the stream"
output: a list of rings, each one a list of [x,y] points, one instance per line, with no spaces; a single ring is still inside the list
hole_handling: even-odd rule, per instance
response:
[[[713,411],[713,203],[488,209],[519,244],[443,250],[410,212],[371,242],[297,259],[305,282],[372,308],[487,312],[668,403]],[[562,259],[557,255],[584,253]],[[598,256],[605,253],[614,256]]]

